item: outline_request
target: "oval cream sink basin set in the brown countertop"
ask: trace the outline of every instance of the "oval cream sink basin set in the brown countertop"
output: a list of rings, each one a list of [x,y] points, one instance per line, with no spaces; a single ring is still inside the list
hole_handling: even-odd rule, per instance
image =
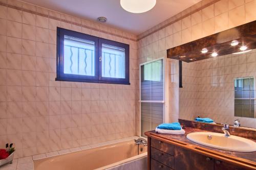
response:
[[[187,138],[199,144],[216,149],[236,152],[256,151],[256,142],[238,136],[225,137],[222,133],[194,132],[187,134]]]

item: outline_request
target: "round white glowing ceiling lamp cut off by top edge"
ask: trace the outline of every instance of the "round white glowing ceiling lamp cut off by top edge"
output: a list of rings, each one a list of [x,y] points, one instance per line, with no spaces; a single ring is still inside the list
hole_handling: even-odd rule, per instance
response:
[[[156,0],[120,0],[121,7],[128,12],[143,13],[156,5]]]

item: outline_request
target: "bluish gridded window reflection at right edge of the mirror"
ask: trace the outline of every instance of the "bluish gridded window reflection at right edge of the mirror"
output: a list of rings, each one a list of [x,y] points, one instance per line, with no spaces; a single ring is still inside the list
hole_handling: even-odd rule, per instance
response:
[[[234,79],[234,116],[255,116],[254,77]]]

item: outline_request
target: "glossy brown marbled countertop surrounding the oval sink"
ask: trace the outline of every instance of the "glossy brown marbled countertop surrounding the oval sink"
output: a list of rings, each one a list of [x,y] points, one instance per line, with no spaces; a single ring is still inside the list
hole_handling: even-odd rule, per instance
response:
[[[231,155],[231,156],[238,157],[238,158],[247,159],[247,160],[250,160],[250,161],[253,161],[253,162],[256,163],[256,152],[233,152],[233,151],[224,151],[224,150],[220,150],[220,149],[206,147],[205,145],[198,144],[198,143],[195,143],[193,141],[188,140],[186,138],[186,135],[189,134],[189,133],[192,133],[192,132],[210,132],[210,131],[205,131],[205,130],[195,129],[195,128],[189,128],[189,127],[186,127],[184,130],[185,130],[185,135],[160,134],[160,133],[157,133],[155,131],[145,132],[145,135],[147,135],[149,133],[153,133],[153,134],[156,134],[159,137],[164,137],[164,138],[167,138],[167,139],[174,139],[174,140],[178,140],[178,141],[181,141],[181,142],[184,142],[184,143],[197,145],[201,148],[205,148],[205,149],[212,150],[212,151],[217,151],[217,152],[220,152],[220,153],[223,153],[223,154],[226,154],[226,155]],[[256,142],[256,140],[252,140],[252,141]]]

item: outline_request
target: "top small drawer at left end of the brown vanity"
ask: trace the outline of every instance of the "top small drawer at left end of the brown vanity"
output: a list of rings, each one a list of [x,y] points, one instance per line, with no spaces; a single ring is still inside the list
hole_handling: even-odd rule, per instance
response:
[[[174,145],[172,145],[172,144],[168,144],[168,143],[165,143],[160,140],[152,138],[151,139],[151,147],[154,147],[154,148],[156,148],[160,151],[163,151],[167,154],[174,155]]]

